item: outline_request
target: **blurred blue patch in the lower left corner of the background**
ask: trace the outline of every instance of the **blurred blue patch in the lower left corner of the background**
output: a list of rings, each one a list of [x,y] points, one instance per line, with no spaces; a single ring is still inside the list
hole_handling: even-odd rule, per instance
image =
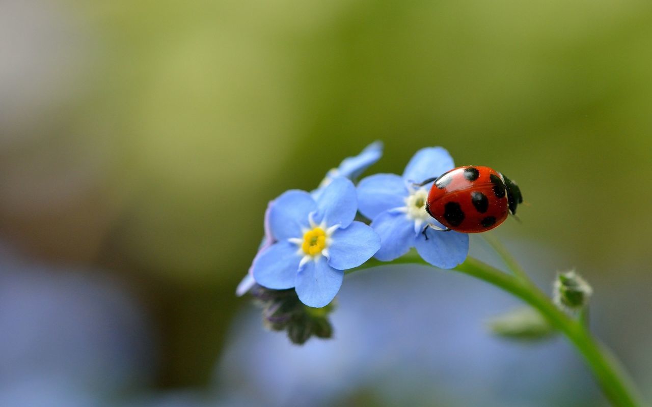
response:
[[[0,406],[104,406],[149,384],[149,328],[119,281],[0,246]]]

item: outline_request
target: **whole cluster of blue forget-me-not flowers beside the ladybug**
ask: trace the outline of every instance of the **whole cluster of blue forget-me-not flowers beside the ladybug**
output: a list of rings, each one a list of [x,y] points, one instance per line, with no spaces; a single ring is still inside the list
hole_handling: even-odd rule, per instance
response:
[[[425,209],[432,183],[415,186],[452,169],[449,153],[441,147],[423,148],[402,176],[372,175],[356,187],[357,176],[381,154],[382,145],[373,143],[329,171],[314,191],[291,189],[271,201],[265,212],[265,237],[237,294],[260,294],[263,287],[266,298],[274,298],[265,305],[265,313],[276,316],[287,308],[278,298],[286,301],[288,292],[308,307],[329,305],[340,290],[344,271],[372,257],[394,260],[415,247],[426,262],[439,268],[463,262],[468,235],[436,231],[443,226]],[[358,213],[370,220],[369,225],[355,220]],[[274,296],[273,290],[283,295]],[[290,314],[281,314],[282,324],[268,324],[271,328],[288,327]]]

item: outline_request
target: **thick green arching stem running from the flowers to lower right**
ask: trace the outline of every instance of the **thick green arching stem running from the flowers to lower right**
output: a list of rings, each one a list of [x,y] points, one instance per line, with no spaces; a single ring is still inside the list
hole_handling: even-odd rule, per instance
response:
[[[415,255],[406,255],[391,263],[370,260],[364,266],[349,270],[349,272],[382,264],[406,263],[429,266],[424,260]],[[591,336],[582,322],[574,320],[559,310],[550,298],[539,290],[539,288],[535,287],[529,279],[505,274],[501,270],[471,257],[467,258],[454,271],[471,275],[471,277],[481,279],[482,281],[502,288],[539,310],[541,315],[555,328],[563,332],[580,351],[582,356],[584,356],[593,374],[595,374],[600,387],[602,387],[602,391],[604,391],[604,394],[614,406],[636,407],[641,405],[637,401],[638,397],[635,395],[636,393],[627,374],[621,369],[614,356]]]

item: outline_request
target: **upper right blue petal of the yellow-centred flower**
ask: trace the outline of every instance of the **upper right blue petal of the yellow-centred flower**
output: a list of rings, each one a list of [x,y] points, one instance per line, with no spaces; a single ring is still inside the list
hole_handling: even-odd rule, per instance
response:
[[[335,178],[324,188],[317,202],[318,211],[314,217],[317,223],[325,220],[328,226],[351,225],[358,210],[358,198],[353,182],[346,178]]]

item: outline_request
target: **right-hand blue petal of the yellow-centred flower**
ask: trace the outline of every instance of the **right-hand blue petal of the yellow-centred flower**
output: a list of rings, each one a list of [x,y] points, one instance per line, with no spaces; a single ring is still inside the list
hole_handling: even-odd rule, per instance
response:
[[[362,222],[354,221],[346,229],[333,233],[328,247],[328,264],[337,270],[348,270],[369,260],[380,248],[380,236]]]

